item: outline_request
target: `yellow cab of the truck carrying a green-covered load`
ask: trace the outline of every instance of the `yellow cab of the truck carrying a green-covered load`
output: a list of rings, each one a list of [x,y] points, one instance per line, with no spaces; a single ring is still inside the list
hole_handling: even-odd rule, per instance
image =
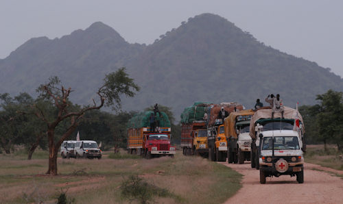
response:
[[[207,130],[206,129],[197,129],[192,131],[193,135],[193,153],[194,155],[204,155],[208,153],[207,146]]]

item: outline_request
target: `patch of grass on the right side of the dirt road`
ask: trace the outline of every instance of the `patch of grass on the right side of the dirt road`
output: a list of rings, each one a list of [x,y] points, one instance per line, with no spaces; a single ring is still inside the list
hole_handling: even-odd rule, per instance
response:
[[[338,152],[334,145],[328,146],[328,151],[324,151],[324,145],[307,145],[305,162],[319,164],[321,166],[343,170],[343,160],[340,158],[343,153]]]

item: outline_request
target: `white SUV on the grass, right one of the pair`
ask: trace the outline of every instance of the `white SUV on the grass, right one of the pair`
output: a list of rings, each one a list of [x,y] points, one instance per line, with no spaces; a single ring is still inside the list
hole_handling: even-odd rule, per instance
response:
[[[76,157],[102,158],[102,151],[93,140],[77,141],[75,144]]]

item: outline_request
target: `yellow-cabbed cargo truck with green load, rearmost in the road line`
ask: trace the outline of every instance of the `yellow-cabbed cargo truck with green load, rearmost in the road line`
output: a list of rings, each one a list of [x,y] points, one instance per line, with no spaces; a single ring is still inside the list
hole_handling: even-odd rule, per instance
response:
[[[211,102],[195,102],[181,114],[181,148],[183,155],[207,157],[207,130],[204,116]],[[205,116],[206,117],[206,116]]]

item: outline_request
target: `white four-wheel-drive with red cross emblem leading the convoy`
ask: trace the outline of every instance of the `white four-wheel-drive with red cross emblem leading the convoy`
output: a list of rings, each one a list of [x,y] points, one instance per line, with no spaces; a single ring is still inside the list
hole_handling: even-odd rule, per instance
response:
[[[280,175],[296,176],[298,183],[304,182],[303,142],[298,131],[272,130],[259,133],[260,138],[260,183],[265,177]]]

